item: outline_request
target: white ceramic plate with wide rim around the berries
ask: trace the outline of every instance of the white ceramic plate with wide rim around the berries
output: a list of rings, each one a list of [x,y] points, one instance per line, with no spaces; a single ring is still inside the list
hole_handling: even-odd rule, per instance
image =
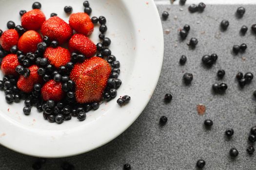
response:
[[[20,24],[19,11],[32,9],[34,0],[0,0],[0,28],[8,20]],[[68,22],[64,6],[73,13],[83,11],[83,0],[39,0],[46,18],[55,12]],[[7,104],[0,91],[0,144],[14,151],[39,156],[63,157],[93,150],[120,135],[143,111],[158,82],[163,59],[163,33],[153,0],[89,0],[91,16],[107,18],[110,49],[121,63],[122,85],[118,96],[129,95],[129,104],[119,107],[117,99],[87,113],[84,121],[72,118],[62,124],[49,123],[36,108],[29,116],[23,102]],[[97,43],[98,26],[92,40]],[[1,74],[2,77],[2,74]]]

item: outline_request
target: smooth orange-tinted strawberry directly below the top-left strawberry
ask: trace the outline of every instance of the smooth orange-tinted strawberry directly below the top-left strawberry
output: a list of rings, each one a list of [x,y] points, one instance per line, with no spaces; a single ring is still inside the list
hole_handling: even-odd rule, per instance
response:
[[[42,42],[41,35],[36,31],[30,30],[20,37],[18,48],[24,53],[35,52],[38,49],[39,42]]]

